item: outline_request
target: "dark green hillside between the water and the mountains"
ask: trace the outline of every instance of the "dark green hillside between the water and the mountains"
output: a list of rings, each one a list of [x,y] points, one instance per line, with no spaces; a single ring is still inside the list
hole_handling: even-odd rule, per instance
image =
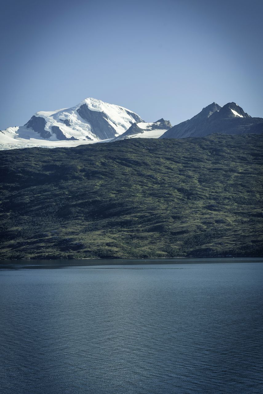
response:
[[[262,255],[262,141],[1,151],[1,258]]]

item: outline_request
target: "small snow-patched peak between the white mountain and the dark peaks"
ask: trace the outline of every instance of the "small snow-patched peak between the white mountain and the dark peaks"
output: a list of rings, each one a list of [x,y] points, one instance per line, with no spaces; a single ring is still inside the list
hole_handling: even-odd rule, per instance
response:
[[[114,138],[113,141],[127,138],[159,138],[171,127],[170,121],[165,121],[163,118],[152,123],[137,122],[133,123],[130,128],[119,137]]]

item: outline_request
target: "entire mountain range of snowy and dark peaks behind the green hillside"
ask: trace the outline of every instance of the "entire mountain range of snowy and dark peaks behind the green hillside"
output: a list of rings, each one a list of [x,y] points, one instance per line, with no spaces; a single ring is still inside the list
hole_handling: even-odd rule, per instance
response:
[[[0,132],[0,150],[73,147],[129,138],[186,138],[212,133],[263,133],[263,119],[251,117],[234,102],[213,102],[193,118],[172,127],[159,119],[146,123],[127,108],[87,98],[72,108],[35,113],[24,126]]]

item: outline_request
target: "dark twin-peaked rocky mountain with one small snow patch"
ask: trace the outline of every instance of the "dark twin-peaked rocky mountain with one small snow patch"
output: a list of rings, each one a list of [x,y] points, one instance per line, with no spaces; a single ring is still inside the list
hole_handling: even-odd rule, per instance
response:
[[[212,133],[263,133],[263,119],[252,118],[235,102],[220,107],[213,102],[193,118],[173,126],[160,138],[202,137]]]

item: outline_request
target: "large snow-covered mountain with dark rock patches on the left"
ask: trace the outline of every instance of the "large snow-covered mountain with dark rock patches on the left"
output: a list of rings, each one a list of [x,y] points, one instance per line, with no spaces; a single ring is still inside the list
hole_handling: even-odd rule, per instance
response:
[[[56,141],[76,141],[72,145],[99,142],[123,134],[133,123],[144,121],[136,113],[92,98],[62,110],[41,111],[19,127],[9,127],[0,135],[0,144],[67,146]]]

